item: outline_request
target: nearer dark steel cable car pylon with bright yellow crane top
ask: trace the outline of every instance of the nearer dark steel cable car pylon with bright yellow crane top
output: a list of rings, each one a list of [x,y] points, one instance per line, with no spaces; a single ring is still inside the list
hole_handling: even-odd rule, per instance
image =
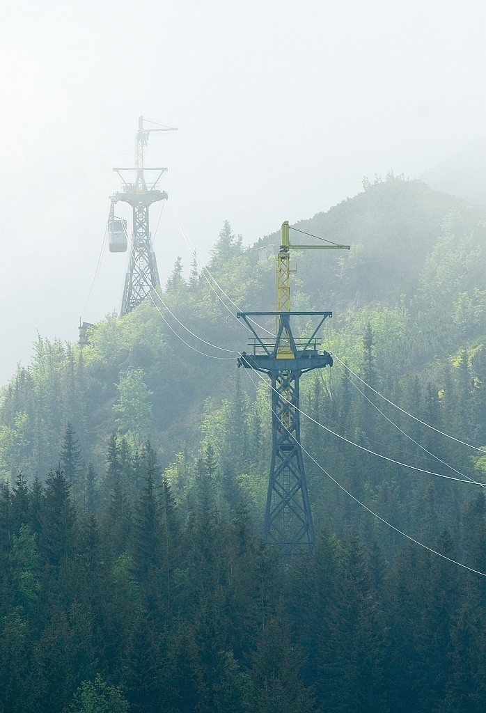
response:
[[[281,226],[281,246],[276,256],[276,312],[237,312],[254,337],[252,353],[242,352],[238,366],[262,371],[272,384],[272,463],[270,466],[264,538],[284,555],[314,548],[309,492],[301,450],[299,379],[312,369],[332,366],[331,354],[319,351],[317,334],[332,312],[290,311],[290,250],[349,250],[349,245],[291,245],[286,220]],[[303,232],[296,230],[296,232]],[[310,235],[304,233],[304,235]],[[311,236],[316,237],[316,236]],[[259,337],[251,317],[276,317],[276,338]],[[311,337],[295,339],[291,317],[315,317]]]

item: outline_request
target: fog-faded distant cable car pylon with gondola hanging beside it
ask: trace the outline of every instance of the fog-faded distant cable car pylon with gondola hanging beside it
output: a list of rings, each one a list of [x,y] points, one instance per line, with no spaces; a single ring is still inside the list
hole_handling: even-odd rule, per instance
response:
[[[136,135],[135,168],[113,168],[123,181],[122,192],[110,196],[111,209],[108,219],[108,238],[110,252],[125,252],[127,250],[126,221],[115,217],[115,203],[119,200],[129,203],[133,208],[133,240],[130,245],[128,270],[125,277],[125,288],[121,314],[131,312],[148,296],[151,289],[160,287],[155,252],[152,250],[152,237],[149,227],[149,208],[157,200],[165,200],[167,193],[159,190],[158,183],[162,173],[167,168],[145,168],[143,165],[143,148],[148,145],[148,137],[155,131],[177,131],[170,126],[147,129],[143,126],[143,116],[138,119]],[[133,175],[135,182],[125,180],[125,172]],[[151,175],[146,180],[146,175]],[[155,179],[153,176],[155,175]]]

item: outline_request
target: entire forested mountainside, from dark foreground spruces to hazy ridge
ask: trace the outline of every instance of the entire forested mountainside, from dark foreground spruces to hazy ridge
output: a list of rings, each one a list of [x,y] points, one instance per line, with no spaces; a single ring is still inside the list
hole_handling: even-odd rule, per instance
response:
[[[277,234],[225,223],[86,347],[38,338],[1,396],[4,710],[484,709],[485,578],[447,558],[486,572],[485,219],[390,175],[296,224],[352,248],[294,260],[334,366],[301,381],[319,546],[291,563],[234,318],[274,309]]]

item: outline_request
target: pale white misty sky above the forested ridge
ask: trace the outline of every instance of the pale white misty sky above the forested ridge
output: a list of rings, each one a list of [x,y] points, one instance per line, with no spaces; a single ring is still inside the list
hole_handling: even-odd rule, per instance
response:
[[[162,188],[204,259],[225,219],[253,242],[363,175],[414,177],[484,135],[485,21],[467,0],[4,7],[0,384],[37,332],[77,339],[140,114],[179,129],[150,137],[146,163],[169,168]],[[177,255],[189,265],[170,205],[155,252],[162,282]],[[86,321],[120,309],[127,256],[105,251]]]

